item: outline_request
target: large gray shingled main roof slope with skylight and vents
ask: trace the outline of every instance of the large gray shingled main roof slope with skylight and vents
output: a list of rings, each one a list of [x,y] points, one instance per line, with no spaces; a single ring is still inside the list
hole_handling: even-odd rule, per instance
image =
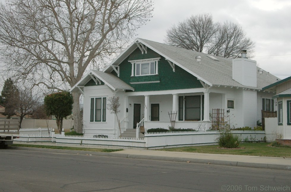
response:
[[[213,56],[219,61],[214,61],[207,57],[208,54],[196,52],[192,50],[182,49],[155,41],[149,41],[146,39],[138,38],[141,43],[149,45],[149,48],[156,49],[163,55],[166,55],[170,59],[184,66],[188,70],[197,74],[201,78],[210,82],[213,85],[224,85],[224,86],[234,86],[234,87],[246,87],[243,86],[232,78],[232,60],[224,57]],[[201,63],[195,60],[195,57],[199,55],[201,57]],[[257,67],[257,70],[260,69]],[[262,89],[269,84],[277,81],[277,77],[269,74],[263,70],[262,74],[257,73],[257,89]]]

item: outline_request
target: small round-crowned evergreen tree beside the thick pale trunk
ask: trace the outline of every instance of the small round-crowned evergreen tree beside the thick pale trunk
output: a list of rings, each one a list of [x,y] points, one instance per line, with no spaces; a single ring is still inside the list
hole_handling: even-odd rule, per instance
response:
[[[63,128],[63,119],[72,114],[73,97],[69,92],[57,92],[45,96],[45,111],[47,115],[54,115],[58,131]]]

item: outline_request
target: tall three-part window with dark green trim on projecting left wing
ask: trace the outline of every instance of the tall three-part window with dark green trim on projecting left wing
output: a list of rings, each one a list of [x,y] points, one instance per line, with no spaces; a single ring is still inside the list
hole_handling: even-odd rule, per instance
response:
[[[91,98],[90,121],[106,121],[106,97]]]

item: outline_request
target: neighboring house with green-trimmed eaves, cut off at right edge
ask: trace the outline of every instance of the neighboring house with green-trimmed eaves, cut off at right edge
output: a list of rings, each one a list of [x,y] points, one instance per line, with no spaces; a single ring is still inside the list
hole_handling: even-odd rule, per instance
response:
[[[272,98],[277,99],[278,140],[291,145],[291,76],[262,88],[263,91],[276,92]]]

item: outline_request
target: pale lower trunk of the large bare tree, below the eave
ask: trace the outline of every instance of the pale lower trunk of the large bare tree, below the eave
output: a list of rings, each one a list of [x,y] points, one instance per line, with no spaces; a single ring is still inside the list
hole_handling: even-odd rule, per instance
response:
[[[73,117],[74,117],[74,130],[77,133],[83,133],[83,119],[80,114],[80,95],[81,93],[73,92]]]

